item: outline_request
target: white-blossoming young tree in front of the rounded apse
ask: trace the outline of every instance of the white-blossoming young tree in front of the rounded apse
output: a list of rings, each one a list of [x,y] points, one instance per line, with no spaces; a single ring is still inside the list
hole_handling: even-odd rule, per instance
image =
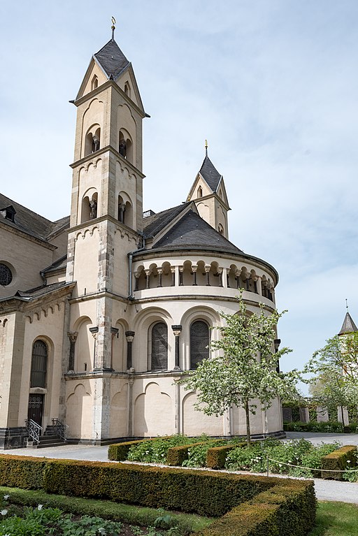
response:
[[[250,413],[255,414],[259,400],[264,410],[277,396],[288,398],[296,393],[296,371],[278,372],[280,357],[288,348],[275,352],[276,325],[282,313],[267,315],[260,304],[259,313],[247,314],[242,296],[238,296],[238,312],[221,314],[225,326],[218,327],[220,340],[211,342],[215,350],[203,359],[196,370],[185,373],[185,389],[197,391],[195,407],[208,415],[222,415],[231,406],[243,407],[246,435],[250,444]]]

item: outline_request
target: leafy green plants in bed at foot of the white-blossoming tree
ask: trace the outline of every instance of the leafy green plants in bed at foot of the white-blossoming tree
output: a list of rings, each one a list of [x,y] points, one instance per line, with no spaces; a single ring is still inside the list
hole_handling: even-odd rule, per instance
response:
[[[277,474],[293,477],[319,477],[323,456],[341,447],[337,442],[322,443],[318,447],[305,439],[281,442],[267,439],[252,444],[250,448],[238,448],[229,452],[225,467],[231,471],[266,472],[267,458],[269,470]],[[284,464],[301,465],[305,468],[317,469],[312,472],[307,469],[289,467]]]

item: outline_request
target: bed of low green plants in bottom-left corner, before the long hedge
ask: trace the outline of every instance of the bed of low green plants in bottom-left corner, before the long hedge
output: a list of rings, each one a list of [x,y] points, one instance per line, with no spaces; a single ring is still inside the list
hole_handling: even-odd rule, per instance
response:
[[[0,536],[185,536],[211,522],[164,509],[18,488],[2,487],[0,493]]]

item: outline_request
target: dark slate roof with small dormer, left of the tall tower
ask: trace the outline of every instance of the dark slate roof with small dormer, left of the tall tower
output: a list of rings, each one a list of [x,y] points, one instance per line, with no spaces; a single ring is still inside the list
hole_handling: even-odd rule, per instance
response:
[[[9,206],[13,206],[16,211],[14,222],[11,222],[10,219],[6,219],[6,217],[1,214],[1,210],[4,210]],[[13,229],[18,229],[23,233],[39,238],[40,240],[48,242],[48,240],[55,236],[59,231],[67,229],[69,227],[69,221],[69,216],[66,216],[57,219],[56,222],[50,222],[49,219],[36,214],[36,212],[29,210],[29,208],[23,207],[12,199],[0,194],[0,222],[13,227]]]

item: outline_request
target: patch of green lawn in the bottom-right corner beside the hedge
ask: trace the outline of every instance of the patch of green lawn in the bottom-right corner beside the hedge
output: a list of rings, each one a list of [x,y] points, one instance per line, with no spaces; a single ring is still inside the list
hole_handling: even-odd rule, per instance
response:
[[[316,528],[309,536],[357,536],[358,505],[318,502]]]

